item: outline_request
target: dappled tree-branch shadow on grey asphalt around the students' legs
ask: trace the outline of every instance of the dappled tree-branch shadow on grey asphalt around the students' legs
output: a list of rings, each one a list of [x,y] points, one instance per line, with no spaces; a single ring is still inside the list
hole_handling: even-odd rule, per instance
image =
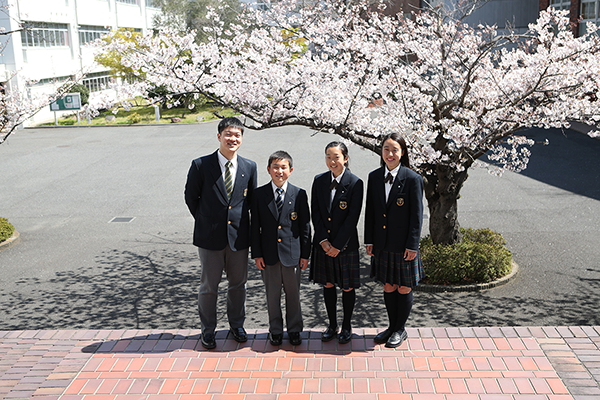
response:
[[[110,250],[98,255],[91,266],[58,272],[45,280],[18,280],[10,291],[0,293],[0,309],[6,314],[1,329],[199,328],[197,253],[191,245],[173,245],[173,241],[164,248],[154,248]],[[382,289],[368,278],[365,253],[361,262],[364,279],[357,291],[353,325],[384,328],[387,315]],[[264,286],[252,261],[249,268],[246,328],[267,329]],[[305,329],[325,328],[322,289],[307,279],[308,270],[303,272],[301,288]],[[419,292],[408,326],[600,325],[600,279],[578,279],[577,292],[559,293],[550,296],[559,300],[548,301],[530,299],[526,294],[492,297],[497,289]],[[228,327],[225,295],[226,284],[222,282],[217,329]],[[339,323],[341,309],[338,295]],[[32,320],[31,315],[40,317]]]

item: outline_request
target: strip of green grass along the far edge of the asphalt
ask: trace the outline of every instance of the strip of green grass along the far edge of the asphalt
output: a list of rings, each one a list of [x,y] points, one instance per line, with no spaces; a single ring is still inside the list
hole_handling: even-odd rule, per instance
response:
[[[233,110],[229,108],[223,108],[212,103],[206,103],[201,107],[196,107],[193,110],[184,108],[170,108],[160,110],[160,120],[156,122],[154,114],[154,107],[147,104],[147,102],[141,98],[135,100],[135,105],[125,110],[122,106],[117,108],[117,113],[113,113],[113,110],[105,110],[100,113],[96,118],[92,119],[90,125],[134,125],[134,124],[171,124],[171,118],[181,118],[183,124],[196,123],[198,117],[204,118],[204,121],[210,121],[217,119],[214,115],[215,112],[223,115],[224,117],[232,117],[237,115]],[[185,111],[185,112],[184,112]],[[183,115],[183,118],[182,118]],[[107,117],[114,116],[113,121],[107,121]],[[112,119],[112,118],[109,118]],[[77,124],[76,115],[66,115],[58,118],[58,125],[75,125]],[[54,121],[39,124],[38,126],[53,126]],[[81,125],[88,125],[85,118],[81,118]]]

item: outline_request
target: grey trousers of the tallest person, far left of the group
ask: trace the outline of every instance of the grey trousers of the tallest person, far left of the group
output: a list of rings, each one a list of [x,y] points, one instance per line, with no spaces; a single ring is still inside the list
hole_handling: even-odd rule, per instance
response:
[[[217,327],[217,294],[223,270],[227,276],[227,319],[231,328],[242,328],[246,318],[246,281],[248,280],[248,249],[233,251],[198,248],[202,274],[198,291],[198,311],[203,334],[214,333]]]

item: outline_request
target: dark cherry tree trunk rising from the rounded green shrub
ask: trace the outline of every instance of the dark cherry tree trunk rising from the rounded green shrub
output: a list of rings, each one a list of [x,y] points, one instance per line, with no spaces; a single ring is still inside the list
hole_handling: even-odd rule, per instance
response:
[[[425,197],[429,208],[429,233],[434,244],[453,244],[462,240],[458,223],[457,200],[467,170],[437,165],[431,174],[424,176]]]

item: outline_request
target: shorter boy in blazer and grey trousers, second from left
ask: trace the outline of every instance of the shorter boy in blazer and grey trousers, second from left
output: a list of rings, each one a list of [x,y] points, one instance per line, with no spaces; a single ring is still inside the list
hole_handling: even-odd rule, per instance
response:
[[[292,345],[302,343],[300,271],[308,266],[310,255],[310,212],[306,191],[287,181],[292,171],[288,153],[273,153],[267,167],[272,180],[256,189],[252,201],[252,258],[265,283],[274,346],[283,340],[282,287],[288,338]]]

